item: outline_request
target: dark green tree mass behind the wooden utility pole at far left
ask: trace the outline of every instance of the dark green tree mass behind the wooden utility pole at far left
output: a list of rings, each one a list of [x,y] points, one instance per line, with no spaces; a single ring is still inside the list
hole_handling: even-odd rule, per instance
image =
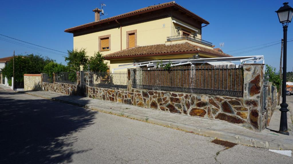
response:
[[[14,81],[23,82],[23,74],[40,74],[44,71],[46,64],[54,60],[41,55],[25,55],[14,57]],[[4,76],[10,78],[13,76],[13,59],[11,59],[2,70]]]

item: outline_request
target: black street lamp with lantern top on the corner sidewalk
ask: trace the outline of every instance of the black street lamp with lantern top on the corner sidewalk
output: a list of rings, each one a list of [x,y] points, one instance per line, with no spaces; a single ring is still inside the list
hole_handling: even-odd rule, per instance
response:
[[[280,121],[280,130],[278,133],[289,135],[288,126],[287,126],[287,109],[288,104],[286,104],[286,72],[287,72],[287,28],[288,24],[292,20],[293,8],[288,5],[288,2],[283,4],[284,6],[280,7],[276,13],[278,14],[279,21],[283,25],[284,32],[284,50],[283,50],[283,81],[282,81],[282,104],[281,106],[281,121]]]

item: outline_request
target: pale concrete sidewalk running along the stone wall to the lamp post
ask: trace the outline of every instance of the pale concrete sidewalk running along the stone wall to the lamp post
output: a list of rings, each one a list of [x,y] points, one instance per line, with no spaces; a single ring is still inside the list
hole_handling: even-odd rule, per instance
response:
[[[207,118],[185,116],[163,111],[135,107],[127,104],[120,104],[110,101],[96,100],[80,96],[67,96],[60,93],[35,91],[24,92],[26,94],[43,97],[50,100],[66,102],[89,109],[104,111],[112,114],[127,116],[138,120],[148,121],[160,125],[178,128],[181,130],[192,131],[200,135],[219,138],[237,144],[256,146],[268,149],[293,149],[293,126],[289,112],[288,129],[290,135],[282,135],[268,129],[262,132],[254,132],[233,123],[224,121],[210,120]],[[271,118],[269,129],[279,130],[280,107],[277,107]],[[291,107],[292,108],[292,107]]]

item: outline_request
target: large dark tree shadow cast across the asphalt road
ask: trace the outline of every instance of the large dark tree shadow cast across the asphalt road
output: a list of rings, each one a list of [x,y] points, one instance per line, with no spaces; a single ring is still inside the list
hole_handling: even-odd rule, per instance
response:
[[[86,100],[83,103],[86,104]],[[70,163],[72,135],[93,124],[97,111],[21,93],[0,92],[0,163]]]

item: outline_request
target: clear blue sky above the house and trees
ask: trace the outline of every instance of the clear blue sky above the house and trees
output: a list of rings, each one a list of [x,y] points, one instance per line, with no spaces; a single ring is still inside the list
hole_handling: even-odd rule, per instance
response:
[[[65,33],[64,29],[94,21],[94,12],[92,10],[96,7],[100,8],[101,3],[107,5],[104,8],[104,11],[107,12],[108,15],[103,18],[108,18],[164,2],[168,2],[168,0],[2,1],[0,5],[0,34],[67,52],[67,50],[73,48],[73,34]],[[202,39],[212,42],[216,47],[219,47],[220,42],[224,42],[225,46],[223,51],[230,55],[274,44],[270,42],[280,41],[283,37],[283,31],[282,25],[279,23],[275,11],[283,6],[283,2],[285,1],[176,1],[179,5],[189,9],[197,15],[200,15],[202,18],[210,22],[210,24],[202,30]],[[293,7],[293,1],[289,0],[288,2],[289,5]],[[2,38],[11,40],[0,36],[0,39]],[[288,39],[293,39],[293,23],[290,23],[288,27]],[[270,44],[258,46],[265,43]],[[252,46],[258,47],[233,51]],[[13,55],[13,50],[15,50],[16,54],[23,55],[30,53],[42,54],[57,60],[57,62],[65,64],[64,57],[62,57],[63,53],[59,53],[62,55],[57,55],[42,52],[40,50],[0,40],[0,58]],[[280,50],[281,44],[277,44],[261,50],[241,54],[241,56],[264,55],[265,63],[277,67],[278,69],[280,67]],[[287,71],[292,71],[292,51],[293,41],[288,42]]]

